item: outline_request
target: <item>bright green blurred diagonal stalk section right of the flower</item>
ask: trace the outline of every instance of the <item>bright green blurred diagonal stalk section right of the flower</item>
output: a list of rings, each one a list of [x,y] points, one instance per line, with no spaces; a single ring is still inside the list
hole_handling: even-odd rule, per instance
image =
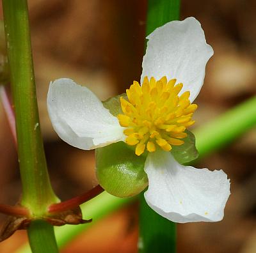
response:
[[[219,150],[256,125],[256,96],[193,131],[198,159]]]

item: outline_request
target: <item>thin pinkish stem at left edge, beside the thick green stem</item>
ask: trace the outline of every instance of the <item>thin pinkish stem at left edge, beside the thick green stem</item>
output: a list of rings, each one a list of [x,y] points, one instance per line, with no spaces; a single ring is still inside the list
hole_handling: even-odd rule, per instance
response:
[[[8,98],[8,95],[6,93],[6,89],[3,85],[0,85],[0,98],[2,100],[4,111],[6,113],[8,123],[9,123],[11,131],[12,131],[13,139],[15,141],[15,144],[17,145],[15,116],[14,116],[14,113],[13,113],[12,105],[11,105],[10,100]]]

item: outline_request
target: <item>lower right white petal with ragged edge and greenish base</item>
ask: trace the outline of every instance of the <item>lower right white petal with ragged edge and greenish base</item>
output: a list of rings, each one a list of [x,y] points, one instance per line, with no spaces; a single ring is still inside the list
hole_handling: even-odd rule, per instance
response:
[[[145,171],[145,199],[159,215],[180,223],[222,220],[230,195],[230,180],[222,170],[180,165],[170,152],[156,151],[148,155]]]

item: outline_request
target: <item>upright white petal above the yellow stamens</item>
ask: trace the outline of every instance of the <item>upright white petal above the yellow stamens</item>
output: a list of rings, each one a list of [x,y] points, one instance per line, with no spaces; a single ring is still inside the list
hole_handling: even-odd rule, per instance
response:
[[[166,75],[183,83],[181,93],[190,91],[190,101],[198,95],[205,76],[205,65],[213,54],[204,31],[193,17],[172,21],[147,36],[141,83],[145,76],[157,80]],[[180,94],[181,94],[180,93]]]

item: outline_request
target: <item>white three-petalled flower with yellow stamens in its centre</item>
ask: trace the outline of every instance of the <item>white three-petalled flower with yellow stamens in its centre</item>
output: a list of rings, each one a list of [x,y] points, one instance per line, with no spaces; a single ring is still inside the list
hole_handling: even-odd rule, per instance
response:
[[[186,93],[186,95],[178,97],[177,101],[180,101],[182,97],[184,101],[186,100],[184,102],[186,104],[189,96],[190,102],[193,102],[204,82],[205,65],[213,54],[212,47],[205,42],[204,31],[200,23],[193,17],[183,21],[169,22],[157,28],[147,38],[147,52],[143,57],[141,84],[143,81],[148,82],[147,78],[144,79],[145,77],[148,77],[148,79],[154,77],[156,80],[161,79],[163,82],[175,78],[183,84],[183,87],[178,84],[175,89],[179,88],[179,91],[181,89],[182,92],[190,91],[190,96],[189,93]],[[154,79],[151,79],[151,81],[154,82]],[[132,89],[136,89],[136,85],[138,83],[134,84],[130,93]],[[146,91],[148,85],[144,86]],[[161,87],[163,88],[163,85]],[[140,86],[139,89],[141,89]],[[151,87],[150,96],[154,96],[152,89]],[[179,91],[177,92],[179,93]],[[136,92],[134,91],[134,94]],[[138,93],[141,93],[141,91],[138,91]],[[163,93],[164,90],[161,91],[161,94]],[[170,92],[170,94],[172,93]],[[166,97],[170,97],[170,94]],[[129,97],[128,93],[127,95]],[[132,99],[136,100],[139,97],[132,94],[130,96],[131,104]],[[125,107],[125,103],[128,102],[124,99],[123,102],[122,107]],[[140,102],[134,102],[133,104],[136,103],[137,105],[140,104]],[[171,111],[176,108],[176,105],[177,103],[172,105]],[[195,111],[196,108],[193,105],[189,107],[189,105],[190,103],[186,104],[186,108]],[[156,105],[153,104],[152,108],[150,107],[151,112],[154,112],[154,106]],[[137,125],[134,127],[134,124],[131,123],[132,116],[129,114],[129,108],[125,113],[126,115],[116,118],[102,105],[102,102],[92,91],[77,85],[70,79],[58,79],[51,82],[47,107],[54,130],[63,141],[72,146],[83,150],[92,150],[113,142],[126,141],[128,144],[137,145],[137,155],[143,153],[147,148],[149,152],[145,162],[145,172],[148,176],[148,190],[145,192],[145,199],[148,205],[159,215],[173,222],[181,223],[215,222],[223,218],[225,204],[230,195],[230,182],[227,175],[222,170],[209,171],[208,169],[196,169],[180,165],[168,151],[172,148],[171,144],[182,144],[182,141],[179,140],[182,138],[182,134],[179,133],[183,133],[184,128],[193,123],[189,110],[179,115],[175,111],[175,117],[178,117],[175,118],[175,124],[181,122],[180,125],[178,123],[175,125],[175,127],[179,127],[178,130],[175,128],[176,132],[172,132],[173,125],[168,125],[169,128],[166,130],[167,127],[161,121],[162,119],[157,119],[157,131],[166,131],[164,133],[167,134],[164,135],[166,139],[164,137],[161,139],[155,137],[159,133],[154,134],[154,137],[150,135],[152,133],[152,128],[150,128],[152,122],[146,124],[144,121],[139,120],[138,123],[138,120],[135,120],[133,122]],[[123,108],[124,112],[125,108]],[[133,108],[133,105],[131,105],[131,108]],[[166,110],[169,110],[169,114],[166,114],[169,117],[170,107]],[[166,110],[162,110],[163,114],[167,113]],[[148,113],[147,108],[144,111],[143,113],[146,113],[146,111]],[[181,121],[178,120],[181,119],[179,117],[182,118]],[[146,127],[141,127],[144,124],[141,122],[144,122]],[[156,121],[154,121],[155,123]],[[133,128],[131,124],[133,124]],[[155,125],[154,128],[156,128]],[[163,130],[164,128],[165,130]],[[134,129],[141,132],[131,135]],[[177,139],[173,139],[173,136]]]

